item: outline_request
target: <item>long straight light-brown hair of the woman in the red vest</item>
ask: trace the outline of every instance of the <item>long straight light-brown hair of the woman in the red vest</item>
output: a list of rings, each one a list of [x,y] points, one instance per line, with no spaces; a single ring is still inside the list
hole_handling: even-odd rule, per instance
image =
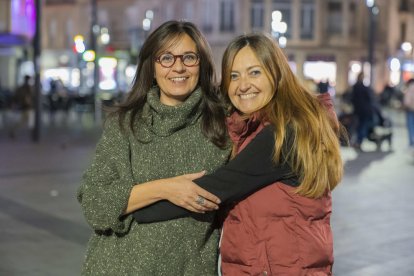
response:
[[[221,91],[228,102],[234,57],[244,47],[255,53],[274,86],[272,99],[259,111],[275,126],[274,161],[288,162],[299,176],[298,194],[322,196],[334,189],[343,175],[337,122],[296,78],[274,39],[262,33],[236,37],[224,53]],[[292,133],[291,141],[287,141],[287,132]]]

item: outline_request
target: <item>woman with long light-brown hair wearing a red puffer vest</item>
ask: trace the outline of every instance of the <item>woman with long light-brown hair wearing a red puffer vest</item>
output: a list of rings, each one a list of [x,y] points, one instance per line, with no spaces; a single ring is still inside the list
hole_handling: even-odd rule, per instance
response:
[[[192,181],[230,209],[221,237],[222,274],[331,275],[331,191],[343,174],[343,132],[329,94],[304,88],[273,38],[260,33],[230,42],[221,92],[231,114],[233,159]],[[134,217],[152,222],[186,212],[157,202]]]

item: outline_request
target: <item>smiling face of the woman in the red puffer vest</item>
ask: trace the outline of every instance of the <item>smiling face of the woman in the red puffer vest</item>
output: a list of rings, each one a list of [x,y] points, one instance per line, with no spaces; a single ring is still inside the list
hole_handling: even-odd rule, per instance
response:
[[[234,58],[227,91],[233,106],[244,114],[263,108],[273,97],[272,81],[249,46]]]

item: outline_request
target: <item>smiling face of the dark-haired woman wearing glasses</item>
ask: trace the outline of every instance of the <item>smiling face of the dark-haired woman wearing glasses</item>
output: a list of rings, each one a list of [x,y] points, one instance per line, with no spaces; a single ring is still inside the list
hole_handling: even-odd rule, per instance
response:
[[[190,52],[197,53],[197,47],[195,42],[187,34],[184,34],[176,43],[160,54],[184,55]],[[165,68],[155,62],[155,79],[160,87],[160,101],[170,106],[184,102],[197,86],[199,71],[200,65],[185,66],[181,58],[177,58],[170,68]]]

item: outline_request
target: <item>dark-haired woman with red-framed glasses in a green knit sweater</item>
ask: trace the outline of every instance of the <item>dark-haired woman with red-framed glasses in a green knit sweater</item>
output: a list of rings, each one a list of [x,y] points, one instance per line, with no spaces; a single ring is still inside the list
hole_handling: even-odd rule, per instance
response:
[[[105,122],[78,190],[93,230],[82,275],[217,274],[219,233],[207,211],[219,199],[191,181],[176,183],[229,158],[215,81],[209,46],[192,23],[166,22],[145,41],[128,99]],[[196,215],[133,220],[131,212],[157,201]]]

